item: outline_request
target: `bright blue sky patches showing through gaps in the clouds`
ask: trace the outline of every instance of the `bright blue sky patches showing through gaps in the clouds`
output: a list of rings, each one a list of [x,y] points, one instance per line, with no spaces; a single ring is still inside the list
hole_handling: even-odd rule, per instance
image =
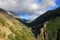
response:
[[[37,0],[37,3],[40,3],[42,0]],[[57,1],[55,1],[55,3],[56,3],[56,6],[54,6],[54,7],[50,7],[50,9],[49,10],[54,10],[54,9],[56,9],[56,8],[58,8],[58,7],[60,7],[60,0],[57,0]],[[47,10],[48,8],[46,8],[46,11],[48,11]],[[21,17],[24,19],[29,19],[30,17],[29,17],[30,15],[22,15]],[[39,16],[39,15],[33,15],[33,16]],[[37,17],[35,17],[35,18],[37,18]]]

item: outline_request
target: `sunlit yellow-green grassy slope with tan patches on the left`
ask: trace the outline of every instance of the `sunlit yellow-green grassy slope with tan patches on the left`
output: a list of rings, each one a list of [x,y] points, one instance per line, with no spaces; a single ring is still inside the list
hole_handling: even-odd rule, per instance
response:
[[[0,40],[34,40],[31,29],[20,21],[0,12]]]

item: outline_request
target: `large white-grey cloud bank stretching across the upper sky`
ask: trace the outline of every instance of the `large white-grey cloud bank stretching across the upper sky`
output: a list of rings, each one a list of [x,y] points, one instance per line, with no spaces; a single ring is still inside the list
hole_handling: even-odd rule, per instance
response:
[[[43,14],[46,8],[56,6],[56,0],[42,0],[41,3],[36,3],[37,0],[0,0],[0,8],[12,10],[15,12],[32,12]]]

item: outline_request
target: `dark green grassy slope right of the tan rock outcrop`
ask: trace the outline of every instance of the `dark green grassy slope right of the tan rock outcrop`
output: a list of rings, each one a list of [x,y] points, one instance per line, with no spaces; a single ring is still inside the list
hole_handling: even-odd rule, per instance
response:
[[[58,29],[60,30],[60,17],[51,19],[46,27],[47,40],[57,40]]]

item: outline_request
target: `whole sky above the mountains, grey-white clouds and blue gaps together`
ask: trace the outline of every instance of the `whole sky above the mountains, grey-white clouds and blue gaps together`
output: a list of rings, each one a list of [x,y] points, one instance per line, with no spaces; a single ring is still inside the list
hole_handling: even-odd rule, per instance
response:
[[[30,20],[57,7],[60,7],[60,0],[0,0],[0,8],[13,11],[20,18]]]

